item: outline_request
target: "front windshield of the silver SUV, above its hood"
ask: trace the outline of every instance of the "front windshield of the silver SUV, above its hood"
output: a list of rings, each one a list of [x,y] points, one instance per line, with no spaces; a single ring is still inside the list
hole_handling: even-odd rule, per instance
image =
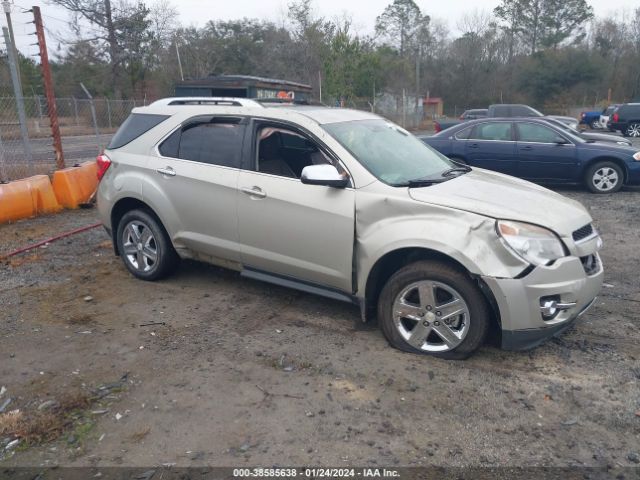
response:
[[[323,128],[369,172],[389,185],[442,177],[456,165],[386,120],[330,123]]]

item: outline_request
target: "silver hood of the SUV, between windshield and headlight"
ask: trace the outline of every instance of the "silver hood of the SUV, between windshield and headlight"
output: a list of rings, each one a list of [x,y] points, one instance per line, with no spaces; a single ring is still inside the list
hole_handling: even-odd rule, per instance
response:
[[[575,200],[525,180],[480,168],[423,188],[409,189],[417,201],[478,213],[487,217],[534,223],[561,237],[591,223]]]

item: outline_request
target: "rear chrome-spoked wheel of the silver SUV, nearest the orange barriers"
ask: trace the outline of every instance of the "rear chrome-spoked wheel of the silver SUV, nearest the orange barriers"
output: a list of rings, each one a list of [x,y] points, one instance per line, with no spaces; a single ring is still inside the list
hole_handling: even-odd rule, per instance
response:
[[[131,228],[141,234],[142,238],[140,240],[133,239]],[[125,229],[127,229],[126,232]],[[132,239],[134,240],[133,243],[131,242]],[[180,262],[180,257],[173,248],[160,220],[147,210],[131,210],[125,213],[118,224],[116,241],[125,267],[134,277],[141,280],[154,281],[164,278],[173,273]],[[125,242],[127,242],[127,245],[125,245]],[[147,245],[143,245],[143,243]],[[142,245],[143,249],[135,251],[137,245]],[[127,254],[127,247],[129,247],[131,255]],[[155,255],[151,255],[153,261],[151,261],[151,257],[143,258],[146,247],[149,248],[149,253],[155,253]],[[131,251],[131,248],[134,251]],[[136,258],[132,259],[131,257]],[[140,259],[142,260],[140,261]],[[142,264],[143,267],[137,268],[134,262],[138,265]]]

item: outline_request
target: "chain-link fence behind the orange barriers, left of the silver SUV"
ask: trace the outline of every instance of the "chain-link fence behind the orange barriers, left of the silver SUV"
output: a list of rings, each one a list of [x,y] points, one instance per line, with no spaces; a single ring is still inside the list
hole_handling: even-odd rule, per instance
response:
[[[0,97],[0,182],[56,169],[46,98],[23,97],[24,124],[15,97]],[[136,106],[144,101],[56,98],[65,164],[94,159]]]

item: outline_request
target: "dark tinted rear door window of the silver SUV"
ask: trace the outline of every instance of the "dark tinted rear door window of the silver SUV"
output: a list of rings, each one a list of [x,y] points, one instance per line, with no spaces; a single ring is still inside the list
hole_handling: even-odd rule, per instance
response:
[[[240,168],[244,133],[239,118],[198,119],[172,133],[158,150],[164,157]]]

